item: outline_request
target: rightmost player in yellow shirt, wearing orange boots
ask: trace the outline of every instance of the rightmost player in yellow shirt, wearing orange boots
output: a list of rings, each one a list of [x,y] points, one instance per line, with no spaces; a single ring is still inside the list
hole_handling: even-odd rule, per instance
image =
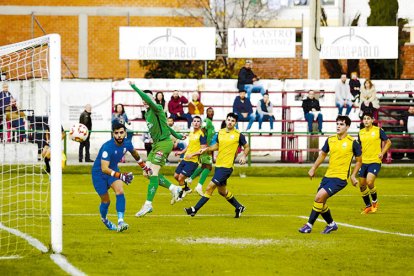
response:
[[[358,141],[362,148],[359,190],[365,203],[365,208],[361,214],[369,214],[375,213],[378,209],[377,188],[374,182],[381,169],[382,158],[391,147],[391,141],[382,128],[372,124],[374,122],[372,113],[364,113],[362,121],[365,127],[358,134]]]

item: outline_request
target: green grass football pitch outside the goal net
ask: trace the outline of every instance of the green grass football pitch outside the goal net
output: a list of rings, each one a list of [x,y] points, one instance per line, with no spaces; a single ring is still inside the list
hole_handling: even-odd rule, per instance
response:
[[[159,187],[154,211],[136,218],[147,189],[147,181],[138,176],[125,186],[130,229],[116,233],[100,221],[90,175],[64,174],[63,255],[88,275],[413,275],[413,177],[380,176],[379,209],[369,215],[360,214],[360,192],[349,184],[328,200],[338,231],[321,234],[326,224],[318,220],[311,234],[300,234],[319,181],[235,174],[228,188],[246,206],[240,219],[233,218],[233,206],[217,192],[189,217],[183,208],[195,205],[199,196],[194,192],[172,206],[170,192]],[[109,218],[115,222],[115,196],[110,194]],[[49,254],[35,251],[0,260],[0,274],[66,273]]]

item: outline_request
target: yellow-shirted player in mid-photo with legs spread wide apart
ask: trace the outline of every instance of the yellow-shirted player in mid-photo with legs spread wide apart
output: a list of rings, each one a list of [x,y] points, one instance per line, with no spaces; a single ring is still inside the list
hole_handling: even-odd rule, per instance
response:
[[[235,129],[237,123],[237,114],[229,113],[226,117],[226,128],[219,131],[217,137],[217,144],[201,149],[200,154],[204,152],[214,152],[218,150],[216,169],[214,172],[213,179],[210,181],[206,188],[206,192],[193,207],[184,208],[187,215],[195,216],[195,214],[203,207],[204,204],[213,195],[214,190],[217,188],[219,194],[227,199],[227,201],[233,205],[236,209],[235,218],[239,218],[244,212],[245,207],[240,204],[233,194],[227,190],[227,179],[233,172],[234,160],[237,157],[237,150],[239,145],[243,146],[243,155],[240,157],[239,163],[241,165],[246,163],[246,157],[249,154],[250,147],[246,142],[246,138],[239,130]]]

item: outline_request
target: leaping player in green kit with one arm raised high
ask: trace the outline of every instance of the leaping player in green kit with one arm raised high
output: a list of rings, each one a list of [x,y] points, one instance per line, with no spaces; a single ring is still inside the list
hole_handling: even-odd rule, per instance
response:
[[[145,112],[145,120],[153,140],[152,150],[147,158],[147,166],[152,170],[152,175],[149,176],[150,182],[148,184],[147,200],[141,210],[135,214],[137,217],[142,217],[147,213],[152,212],[152,201],[154,200],[158,185],[171,191],[173,196],[171,204],[181,200],[181,188],[171,184],[169,180],[160,174],[160,169],[165,165],[165,161],[173,149],[173,142],[170,138],[170,134],[181,140],[184,140],[186,137],[176,133],[167,125],[167,117],[165,116],[164,109],[161,105],[155,103],[150,90],[141,91],[132,81],[130,81],[129,84],[142,98],[144,106],[147,108],[147,112]]]

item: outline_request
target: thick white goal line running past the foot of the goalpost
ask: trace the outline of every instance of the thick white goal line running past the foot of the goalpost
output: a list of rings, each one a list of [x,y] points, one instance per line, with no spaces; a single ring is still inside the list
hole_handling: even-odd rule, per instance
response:
[[[43,253],[47,253],[49,251],[47,249],[47,247],[41,241],[39,241],[38,239],[33,238],[32,236],[30,236],[26,233],[23,233],[23,232],[21,232],[17,229],[7,227],[1,222],[0,222],[0,230],[7,231],[10,234],[13,234],[13,235],[15,235],[19,238],[22,238],[22,239],[26,240],[31,246],[33,246],[34,248],[36,248],[37,250],[39,250]],[[21,257],[18,256],[18,255],[11,255],[11,256],[6,256],[6,257],[0,257],[0,260],[18,259],[18,258],[21,258]],[[85,273],[83,273],[82,271],[80,271],[79,269],[74,267],[71,263],[69,263],[68,260],[66,260],[66,258],[64,256],[60,255],[60,254],[51,254],[50,258],[63,271],[65,271],[66,273],[68,273],[70,275],[74,275],[74,276],[86,275]]]

